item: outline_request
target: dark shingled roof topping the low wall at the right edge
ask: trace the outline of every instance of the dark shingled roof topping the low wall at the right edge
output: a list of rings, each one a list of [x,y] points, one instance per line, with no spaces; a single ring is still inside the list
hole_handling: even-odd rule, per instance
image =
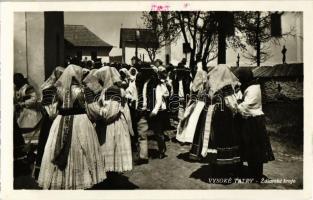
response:
[[[256,67],[253,74],[258,78],[296,78],[303,77],[303,63],[278,64],[267,67]]]

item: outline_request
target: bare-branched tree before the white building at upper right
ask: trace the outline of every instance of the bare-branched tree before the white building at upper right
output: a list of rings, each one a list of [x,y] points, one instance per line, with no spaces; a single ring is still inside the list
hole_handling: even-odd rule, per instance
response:
[[[272,56],[270,45],[277,45],[279,39],[292,35],[292,29],[281,33],[280,19],[279,23],[273,24],[273,16],[276,15],[280,18],[282,14],[283,12],[235,12],[234,23],[242,34],[240,38],[254,50],[254,52],[247,52],[243,56],[252,63],[256,63],[257,66]],[[273,31],[274,29],[277,31]]]

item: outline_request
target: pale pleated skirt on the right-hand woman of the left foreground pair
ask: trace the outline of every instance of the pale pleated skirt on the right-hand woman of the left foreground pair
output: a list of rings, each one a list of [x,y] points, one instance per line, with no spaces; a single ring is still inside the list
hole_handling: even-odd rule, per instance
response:
[[[124,115],[107,125],[105,143],[101,146],[105,169],[112,172],[133,168],[130,130]]]

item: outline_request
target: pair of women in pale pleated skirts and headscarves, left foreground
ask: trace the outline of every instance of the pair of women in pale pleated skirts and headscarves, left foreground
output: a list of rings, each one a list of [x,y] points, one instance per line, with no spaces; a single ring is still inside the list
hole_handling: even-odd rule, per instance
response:
[[[39,186],[85,189],[132,169],[130,111],[115,68],[57,67],[41,89]]]

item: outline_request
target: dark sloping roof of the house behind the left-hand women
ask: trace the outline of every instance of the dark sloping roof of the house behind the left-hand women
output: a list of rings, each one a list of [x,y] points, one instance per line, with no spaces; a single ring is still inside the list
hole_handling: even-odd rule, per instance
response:
[[[73,46],[113,47],[112,45],[100,39],[84,25],[64,25],[64,39]]]

